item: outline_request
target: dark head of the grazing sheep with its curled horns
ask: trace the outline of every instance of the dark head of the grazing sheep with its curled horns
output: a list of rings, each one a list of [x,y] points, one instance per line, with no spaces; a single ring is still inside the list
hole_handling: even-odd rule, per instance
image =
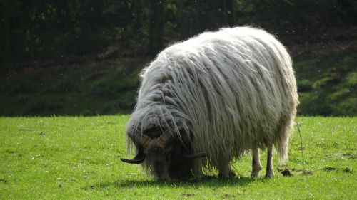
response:
[[[148,135],[151,135],[152,137],[149,137]],[[135,136],[129,134],[129,137],[138,148],[138,154],[136,154],[134,159],[121,159],[121,161],[131,164],[140,164],[146,159],[146,162],[149,162],[153,169],[155,181],[170,180],[169,169],[173,154],[181,153],[180,149],[174,149],[174,136],[169,132],[161,133],[159,137],[155,137],[156,134],[148,135],[142,134]],[[206,153],[201,152],[198,154],[183,154],[182,158],[188,160],[205,156]]]

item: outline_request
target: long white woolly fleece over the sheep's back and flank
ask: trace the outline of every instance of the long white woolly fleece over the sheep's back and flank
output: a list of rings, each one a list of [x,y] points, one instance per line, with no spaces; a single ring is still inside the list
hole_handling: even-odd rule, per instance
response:
[[[193,148],[213,163],[273,143],[297,102],[290,56],[256,28],[224,28],[170,46],[142,78],[138,105],[156,101],[183,112]]]

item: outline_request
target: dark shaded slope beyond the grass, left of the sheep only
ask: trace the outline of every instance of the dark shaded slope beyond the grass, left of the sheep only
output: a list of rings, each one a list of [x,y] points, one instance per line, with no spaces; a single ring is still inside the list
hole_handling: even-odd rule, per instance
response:
[[[0,115],[103,115],[130,112],[145,58],[25,68],[1,75]]]

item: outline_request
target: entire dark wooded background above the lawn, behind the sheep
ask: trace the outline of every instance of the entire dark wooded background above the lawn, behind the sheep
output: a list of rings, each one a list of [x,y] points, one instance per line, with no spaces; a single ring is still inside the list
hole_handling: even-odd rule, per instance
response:
[[[356,0],[0,2],[0,115],[131,112],[156,53],[243,25],[291,52],[299,115],[357,115]]]

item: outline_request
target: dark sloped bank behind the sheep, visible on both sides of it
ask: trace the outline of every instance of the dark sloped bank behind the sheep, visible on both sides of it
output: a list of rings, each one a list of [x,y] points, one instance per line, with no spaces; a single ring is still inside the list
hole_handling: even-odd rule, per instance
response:
[[[301,105],[298,115],[357,115],[357,28],[303,36],[288,46]],[[93,58],[37,63],[1,73],[0,115],[109,115],[135,105],[139,72],[150,58],[118,47]]]

